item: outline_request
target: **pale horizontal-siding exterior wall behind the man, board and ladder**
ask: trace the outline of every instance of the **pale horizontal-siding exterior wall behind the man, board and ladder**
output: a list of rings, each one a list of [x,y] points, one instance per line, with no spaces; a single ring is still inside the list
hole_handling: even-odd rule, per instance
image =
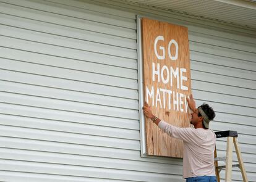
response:
[[[0,181],[184,181],[182,160],[140,157],[137,14],[189,28],[197,104],[216,110],[213,130],[238,131],[256,181],[255,30],[120,1],[0,13]]]

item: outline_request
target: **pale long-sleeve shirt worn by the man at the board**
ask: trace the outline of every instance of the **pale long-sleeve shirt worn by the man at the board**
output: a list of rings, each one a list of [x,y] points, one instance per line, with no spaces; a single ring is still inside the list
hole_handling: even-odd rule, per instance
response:
[[[215,133],[203,128],[179,128],[163,120],[158,123],[169,136],[183,140],[183,178],[215,176]]]

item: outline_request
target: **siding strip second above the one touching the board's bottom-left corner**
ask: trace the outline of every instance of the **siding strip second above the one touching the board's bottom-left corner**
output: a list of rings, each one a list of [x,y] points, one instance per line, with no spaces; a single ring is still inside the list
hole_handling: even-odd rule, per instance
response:
[[[20,126],[36,128],[49,131],[62,131],[76,134],[89,134],[123,139],[140,139],[138,130],[127,130],[99,125],[88,125],[82,123],[63,122],[56,120],[45,120],[40,118],[26,118],[14,115],[0,114],[0,124],[7,126]]]

